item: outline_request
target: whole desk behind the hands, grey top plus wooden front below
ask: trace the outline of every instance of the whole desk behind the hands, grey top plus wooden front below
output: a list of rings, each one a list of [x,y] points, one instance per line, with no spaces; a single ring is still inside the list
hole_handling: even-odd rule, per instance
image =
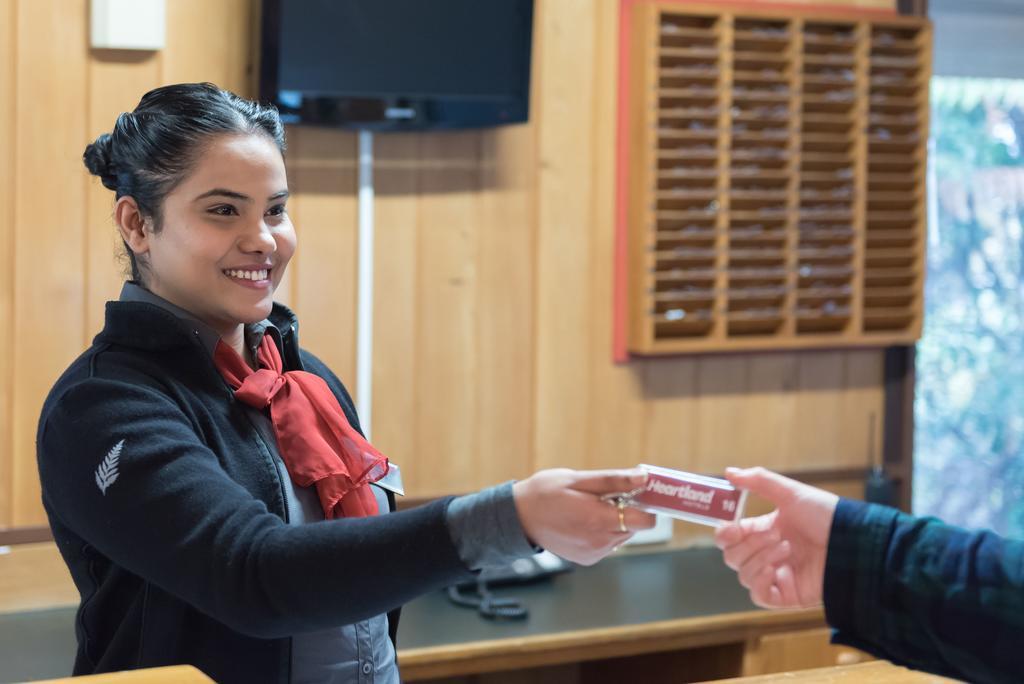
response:
[[[441,592],[410,603],[398,630],[403,679],[503,672],[503,682],[529,681],[557,670],[587,682],[640,673],[683,682],[863,657],[827,644],[818,609],[754,606],[713,548],[624,554],[496,593],[520,599],[528,617],[487,619]]]

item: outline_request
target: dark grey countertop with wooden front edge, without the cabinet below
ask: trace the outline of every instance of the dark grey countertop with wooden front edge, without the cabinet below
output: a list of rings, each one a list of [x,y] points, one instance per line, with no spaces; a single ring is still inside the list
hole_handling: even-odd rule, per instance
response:
[[[535,585],[507,587],[524,621],[495,622],[442,592],[414,600],[398,626],[406,680],[638,655],[824,627],[820,609],[767,611],[751,603],[717,549],[605,559]]]

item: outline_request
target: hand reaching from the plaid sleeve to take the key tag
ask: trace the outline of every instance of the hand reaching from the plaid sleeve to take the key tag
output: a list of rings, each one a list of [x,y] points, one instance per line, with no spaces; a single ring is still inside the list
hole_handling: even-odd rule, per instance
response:
[[[764,468],[730,468],[726,477],[776,506],[767,515],[722,525],[715,532],[725,563],[739,574],[751,600],[764,608],[819,604],[839,497]]]

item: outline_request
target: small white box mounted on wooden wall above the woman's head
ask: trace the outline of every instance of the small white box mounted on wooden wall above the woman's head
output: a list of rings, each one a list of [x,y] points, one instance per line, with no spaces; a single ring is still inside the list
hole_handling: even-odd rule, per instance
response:
[[[117,50],[160,50],[166,42],[166,0],[92,0],[90,44]]]

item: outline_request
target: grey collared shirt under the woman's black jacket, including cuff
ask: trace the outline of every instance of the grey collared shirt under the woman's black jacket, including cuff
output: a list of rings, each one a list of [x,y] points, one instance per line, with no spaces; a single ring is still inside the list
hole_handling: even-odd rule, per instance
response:
[[[220,341],[220,336],[213,328],[136,283],[125,283],[121,290],[121,301],[154,304],[187,320],[211,355]],[[281,333],[269,320],[246,326],[246,346],[250,350],[255,349],[267,334],[281,345]],[[286,485],[288,524],[299,525],[324,520],[324,511],[314,487],[298,486],[289,476],[278,450],[269,416],[264,411],[248,405],[245,410],[273,457],[278,474]],[[380,487],[372,488],[377,497],[378,509],[387,512],[387,496]],[[474,570],[508,564],[539,550],[523,533],[515,510],[511,482],[455,499],[447,510],[447,525],[460,558]],[[394,646],[388,637],[387,615],[377,615],[354,625],[294,635],[291,679],[293,684],[397,683],[398,667]]]

